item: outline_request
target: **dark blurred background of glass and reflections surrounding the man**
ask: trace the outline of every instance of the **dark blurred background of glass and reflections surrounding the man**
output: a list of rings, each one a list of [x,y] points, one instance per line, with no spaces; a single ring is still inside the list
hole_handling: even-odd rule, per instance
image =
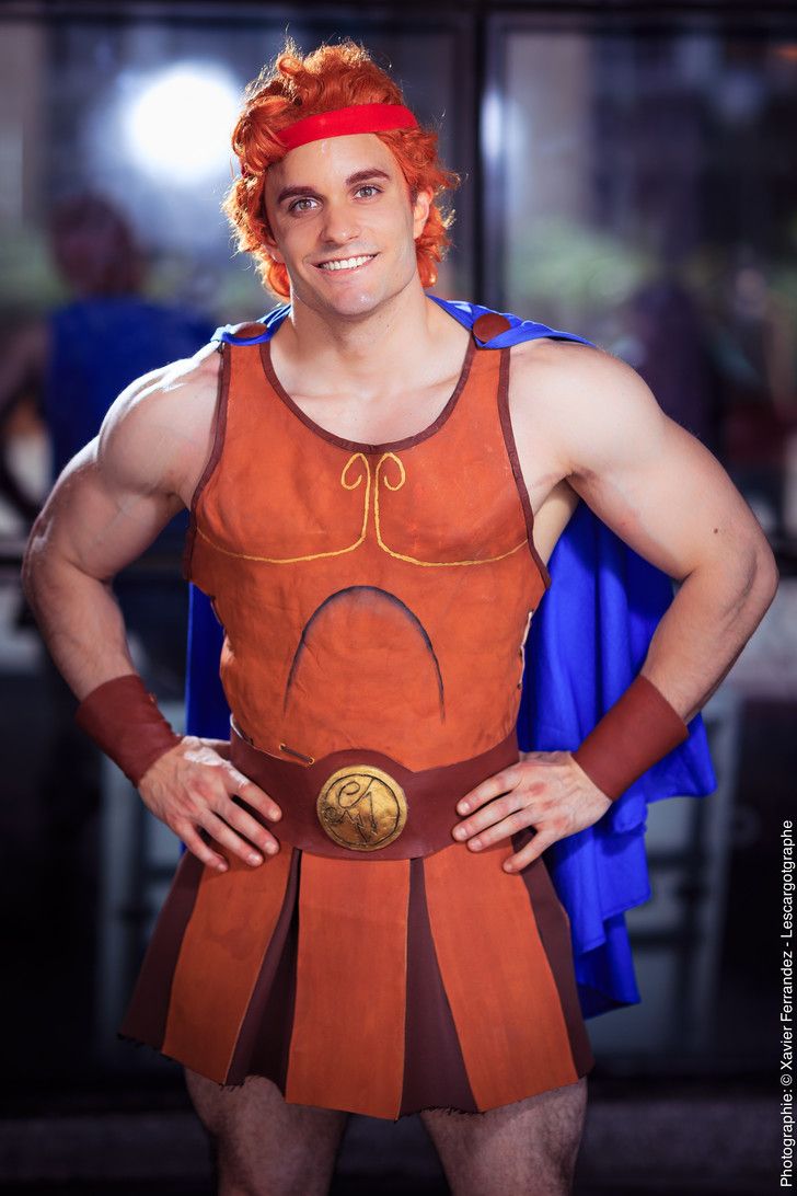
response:
[[[797,774],[797,10],[643,2],[0,7],[0,1190],[207,1194],[180,1069],[116,1038],[174,837],[72,727],[19,588],[51,481],[135,377],[276,300],[219,212],[288,31],[354,36],[464,179],[435,293],[629,361],[753,506],[781,574],[705,710],[707,799],[651,808],[640,1006],[589,1023],[576,1191],[778,1186],[780,826]],[[117,581],[182,720],[176,520]],[[789,806],[789,799],[791,805]],[[446,1192],[417,1117],[354,1116],[333,1192]]]

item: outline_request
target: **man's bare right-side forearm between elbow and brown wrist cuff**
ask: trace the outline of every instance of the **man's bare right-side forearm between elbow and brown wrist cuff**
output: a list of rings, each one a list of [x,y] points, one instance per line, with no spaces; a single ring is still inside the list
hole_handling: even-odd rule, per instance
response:
[[[718,689],[772,603],[778,570],[766,544],[706,563],[682,582],[650,642],[642,673],[688,722]]]

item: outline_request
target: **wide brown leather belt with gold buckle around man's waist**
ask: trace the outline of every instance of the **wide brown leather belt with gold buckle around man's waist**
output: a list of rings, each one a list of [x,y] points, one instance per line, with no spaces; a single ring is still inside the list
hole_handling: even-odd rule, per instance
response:
[[[231,759],[277,803],[280,842],[337,859],[406,860],[456,842],[456,803],[520,759],[517,734],[470,759],[412,771],[382,752],[347,748],[302,764],[260,751],[231,722]]]

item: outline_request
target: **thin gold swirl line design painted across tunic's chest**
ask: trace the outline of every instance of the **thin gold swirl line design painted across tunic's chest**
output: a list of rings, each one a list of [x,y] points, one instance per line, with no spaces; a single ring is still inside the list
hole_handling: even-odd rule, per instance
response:
[[[354,465],[356,463],[362,465],[361,471],[355,476]],[[398,469],[398,475],[396,481],[391,481],[387,474],[387,466],[394,464]],[[528,544],[528,537],[523,537],[519,544],[510,548],[505,553],[501,553],[498,556],[482,556],[473,560],[465,561],[422,561],[417,556],[409,556],[405,553],[398,553],[385,543],[382,538],[381,519],[380,519],[380,507],[379,507],[379,487],[380,481],[384,483],[387,490],[400,490],[406,482],[406,469],[404,462],[400,457],[397,457],[394,452],[385,452],[376,462],[374,466],[374,480],[372,483],[372,465],[368,457],[363,452],[352,453],[347,460],[345,465],[341,471],[339,483],[345,490],[356,490],[364,480],[363,490],[363,509],[362,509],[362,526],[360,535],[352,544],[347,544],[345,548],[335,548],[325,553],[308,553],[304,556],[258,556],[253,553],[234,553],[228,548],[223,548],[213,541],[197,524],[197,533],[206,541],[211,548],[217,553],[222,553],[225,556],[234,556],[240,561],[258,561],[264,565],[296,565],[300,561],[319,561],[330,556],[343,556],[347,553],[354,553],[361,544],[363,544],[368,537],[368,518],[370,514],[370,495],[374,495],[374,532],[376,536],[376,543],[379,544],[382,553],[392,556],[397,561],[406,561],[409,565],[418,565],[424,568],[452,568],[456,566],[470,566],[470,565],[490,565],[493,561],[503,561],[504,557],[511,556],[514,553],[520,551],[526,544]]]

